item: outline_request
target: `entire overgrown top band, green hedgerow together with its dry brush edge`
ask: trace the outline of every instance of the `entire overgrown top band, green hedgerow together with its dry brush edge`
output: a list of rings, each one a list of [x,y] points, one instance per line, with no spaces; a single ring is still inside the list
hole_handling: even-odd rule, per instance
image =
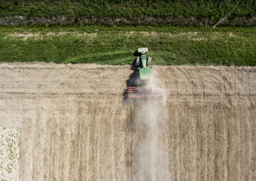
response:
[[[64,20],[59,20],[58,23],[64,22],[67,24],[93,22],[103,24],[214,25],[229,13],[231,14],[222,23],[223,25],[255,25],[256,0],[0,1],[2,25],[47,24],[47,21],[48,24],[55,24],[58,17],[64,18]],[[16,15],[28,19],[12,18]],[[8,20],[10,20],[9,23]]]

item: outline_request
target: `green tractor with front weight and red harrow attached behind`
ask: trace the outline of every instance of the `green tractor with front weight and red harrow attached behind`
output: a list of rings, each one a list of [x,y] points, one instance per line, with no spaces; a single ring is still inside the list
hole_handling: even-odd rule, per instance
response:
[[[136,87],[127,87],[128,98],[162,98],[162,87],[152,86],[150,79],[152,71],[150,67],[151,57],[145,55],[148,48],[138,48],[138,53],[141,55],[137,57],[135,66],[136,72]],[[151,84],[151,85],[150,85]]]

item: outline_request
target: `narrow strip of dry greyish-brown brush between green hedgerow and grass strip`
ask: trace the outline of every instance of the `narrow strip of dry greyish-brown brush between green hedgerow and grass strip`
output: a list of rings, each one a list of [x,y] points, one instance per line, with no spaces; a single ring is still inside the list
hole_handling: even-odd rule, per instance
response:
[[[209,18],[189,17],[128,17],[128,18],[95,18],[82,17],[71,18],[64,16],[56,16],[51,18],[27,18],[25,16],[12,16],[0,18],[0,25],[5,26],[20,26],[20,25],[46,25],[46,26],[69,26],[69,25],[215,25],[216,21]],[[221,21],[218,26],[256,26],[256,16],[253,17],[227,17]]]

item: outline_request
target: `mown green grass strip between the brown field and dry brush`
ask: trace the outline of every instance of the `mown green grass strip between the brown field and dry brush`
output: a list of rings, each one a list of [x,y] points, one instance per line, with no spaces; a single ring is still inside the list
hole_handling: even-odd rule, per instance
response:
[[[256,28],[209,26],[0,27],[0,62],[256,66]]]

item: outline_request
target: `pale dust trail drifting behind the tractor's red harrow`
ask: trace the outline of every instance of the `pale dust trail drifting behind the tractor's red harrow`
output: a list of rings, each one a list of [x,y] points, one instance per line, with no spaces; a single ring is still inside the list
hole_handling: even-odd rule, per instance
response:
[[[155,86],[153,79],[148,86]],[[165,96],[133,101],[132,180],[169,180],[165,101]]]

